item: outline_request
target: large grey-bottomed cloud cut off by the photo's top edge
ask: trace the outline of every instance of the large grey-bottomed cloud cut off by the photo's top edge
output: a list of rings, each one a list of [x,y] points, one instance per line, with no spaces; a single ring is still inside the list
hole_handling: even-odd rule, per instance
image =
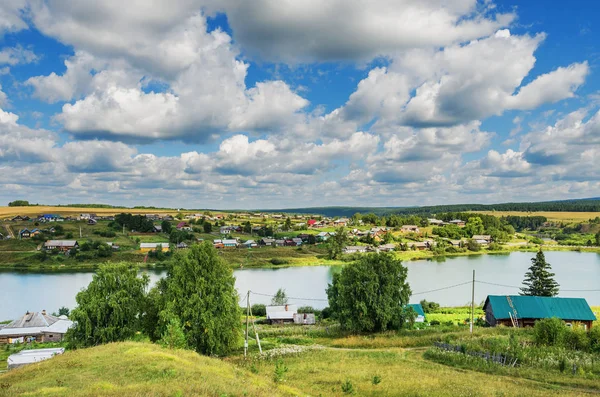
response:
[[[209,7],[211,9],[211,7]],[[477,0],[214,2],[250,54],[276,62],[365,61],[487,36],[513,14]]]

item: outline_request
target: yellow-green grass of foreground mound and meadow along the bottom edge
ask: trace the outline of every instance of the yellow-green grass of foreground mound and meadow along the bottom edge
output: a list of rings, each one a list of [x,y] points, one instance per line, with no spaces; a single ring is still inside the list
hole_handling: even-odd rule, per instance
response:
[[[0,396],[535,397],[590,390],[576,378],[529,380],[454,368],[424,359],[422,349],[304,349],[273,358],[252,354],[248,360],[240,355],[220,360],[143,342],[113,343],[0,375]]]

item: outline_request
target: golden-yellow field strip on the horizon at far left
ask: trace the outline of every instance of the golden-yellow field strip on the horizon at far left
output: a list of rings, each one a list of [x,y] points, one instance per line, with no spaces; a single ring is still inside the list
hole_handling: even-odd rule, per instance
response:
[[[79,214],[94,213],[98,215],[115,215],[122,212],[131,214],[176,214],[176,210],[157,210],[157,209],[132,209],[132,208],[81,208],[81,207],[52,207],[52,206],[29,206],[29,207],[0,207],[0,219],[12,218],[17,215],[40,215],[40,214],[58,214],[63,216],[73,216]]]

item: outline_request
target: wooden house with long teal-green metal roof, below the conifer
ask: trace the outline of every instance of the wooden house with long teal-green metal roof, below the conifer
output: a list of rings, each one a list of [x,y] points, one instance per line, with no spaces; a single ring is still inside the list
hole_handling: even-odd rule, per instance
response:
[[[583,298],[547,296],[488,295],[483,305],[485,320],[496,325],[528,327],[537,320],[556,317],[567,325],[583,324],[592,327],[596,316]]]

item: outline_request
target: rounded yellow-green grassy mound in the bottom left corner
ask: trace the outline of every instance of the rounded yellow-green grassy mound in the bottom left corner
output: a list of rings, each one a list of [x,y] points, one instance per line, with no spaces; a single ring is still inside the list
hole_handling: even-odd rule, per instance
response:
[[[135,342],[67,352],[0,375],[3,397],[297,394],[222,360]]]

